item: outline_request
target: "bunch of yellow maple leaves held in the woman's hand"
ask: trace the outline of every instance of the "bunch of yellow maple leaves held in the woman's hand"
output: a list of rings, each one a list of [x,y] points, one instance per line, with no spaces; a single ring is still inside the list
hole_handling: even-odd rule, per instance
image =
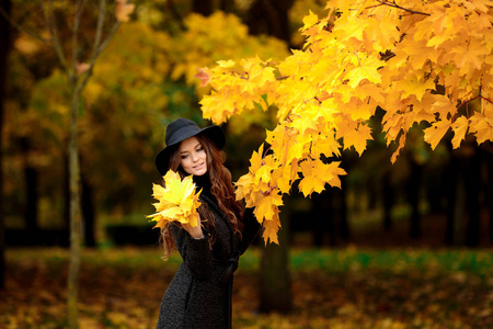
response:
[[[162,228],[169,222],[180,222],[188,224],[192,227],[198,225],[197,208],[202,204],[198,202],[200,191],[195,193],[195,183],[192,175],[183,179],[177,172],[168,171],[164,179],[164,186],[152,184],[152,196],[158,203],[152,205],[156,207],[156,214],[147,216],[150,220],[156,220],[153,228]]]

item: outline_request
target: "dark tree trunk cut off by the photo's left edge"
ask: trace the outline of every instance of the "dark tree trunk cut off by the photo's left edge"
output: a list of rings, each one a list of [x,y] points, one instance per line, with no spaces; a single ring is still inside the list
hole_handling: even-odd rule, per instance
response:
[[[2,0],[0,8],[9,15],[11,11],[11,1]],[[9,22],[0,15],[0,148],[3,145],[3,104],[5,98],[7,81],[7,59],[10,52],[11,26]],[[5,223],[3,218],[3,151],[0,149],[0,288],[5,287]]]

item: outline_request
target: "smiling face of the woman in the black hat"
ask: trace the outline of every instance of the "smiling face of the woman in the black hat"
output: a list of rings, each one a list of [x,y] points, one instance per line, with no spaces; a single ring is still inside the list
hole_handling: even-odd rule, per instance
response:
[[[186,173],[203,175],[207,172],[207,154],[195,137],[183,140],[179,147],[180,166]]]

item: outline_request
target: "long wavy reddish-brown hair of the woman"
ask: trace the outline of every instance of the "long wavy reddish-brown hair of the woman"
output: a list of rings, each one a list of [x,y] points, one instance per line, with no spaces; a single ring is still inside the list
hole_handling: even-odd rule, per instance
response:
[[[226,158],[225,152],[221,151],[209,138],[207,138],[207,136],[199,134],[195,137],[200,143],[207,155],[207,172],[210,180],[210,193],[216,197],[219,209],[225,213],[230,220],[234,232],[241,237],[241,231],[243,229],[243,208],[236,200],[231,172],[223,166]],[[172,149],[167,171],[177,171],[180,177],[183,179],[188,175],[188,173],[186,173],[180,166],[181,156],[177,151],[179,147],[180,144]],[[162,184],[164,184],[164,182],[162,182]],[[207,204],[204,203],[198,207],[197,212],[200,215],[200,224],[210,235],[209,247],[211,247],[216,240],[216,225],[214,215],[210,209],[208,209]],[[160,242],[164,250],[164,259],[168,259],[171,252],[176,249],[173,235],[170,230],[170,225],[180,226],[180,224],[169,223],[161,228]]]

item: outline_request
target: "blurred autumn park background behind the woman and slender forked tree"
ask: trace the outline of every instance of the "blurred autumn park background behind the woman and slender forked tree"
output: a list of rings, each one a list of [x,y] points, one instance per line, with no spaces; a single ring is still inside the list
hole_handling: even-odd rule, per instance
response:
[[[152,182],[164,127],[199,125],[197,69],[299,49],[302,18],[324,1],[133,1],[94,65],[79,113],[83,252],[81,328],[153,328],[180,258],[161,260]],[[106,32],[115,3],[108,1]],[[2,2],[0,328],[66,328],[69,263],[70,94],[39,2]],[[70,53],[74,4],[54,1]],[[99,8],[88,1],[81,54]],[[81,67],[83,69],[83,66]],[[236,328],[491,328],[493,146],[450,137],[431,150],[421,127],[398,161],[372,117],[362,157],[345,150],[342,189],[294,189],[279,246],[259,239],[236,274]],[[233,180],[272,128],[273,113],[223,124]]]

